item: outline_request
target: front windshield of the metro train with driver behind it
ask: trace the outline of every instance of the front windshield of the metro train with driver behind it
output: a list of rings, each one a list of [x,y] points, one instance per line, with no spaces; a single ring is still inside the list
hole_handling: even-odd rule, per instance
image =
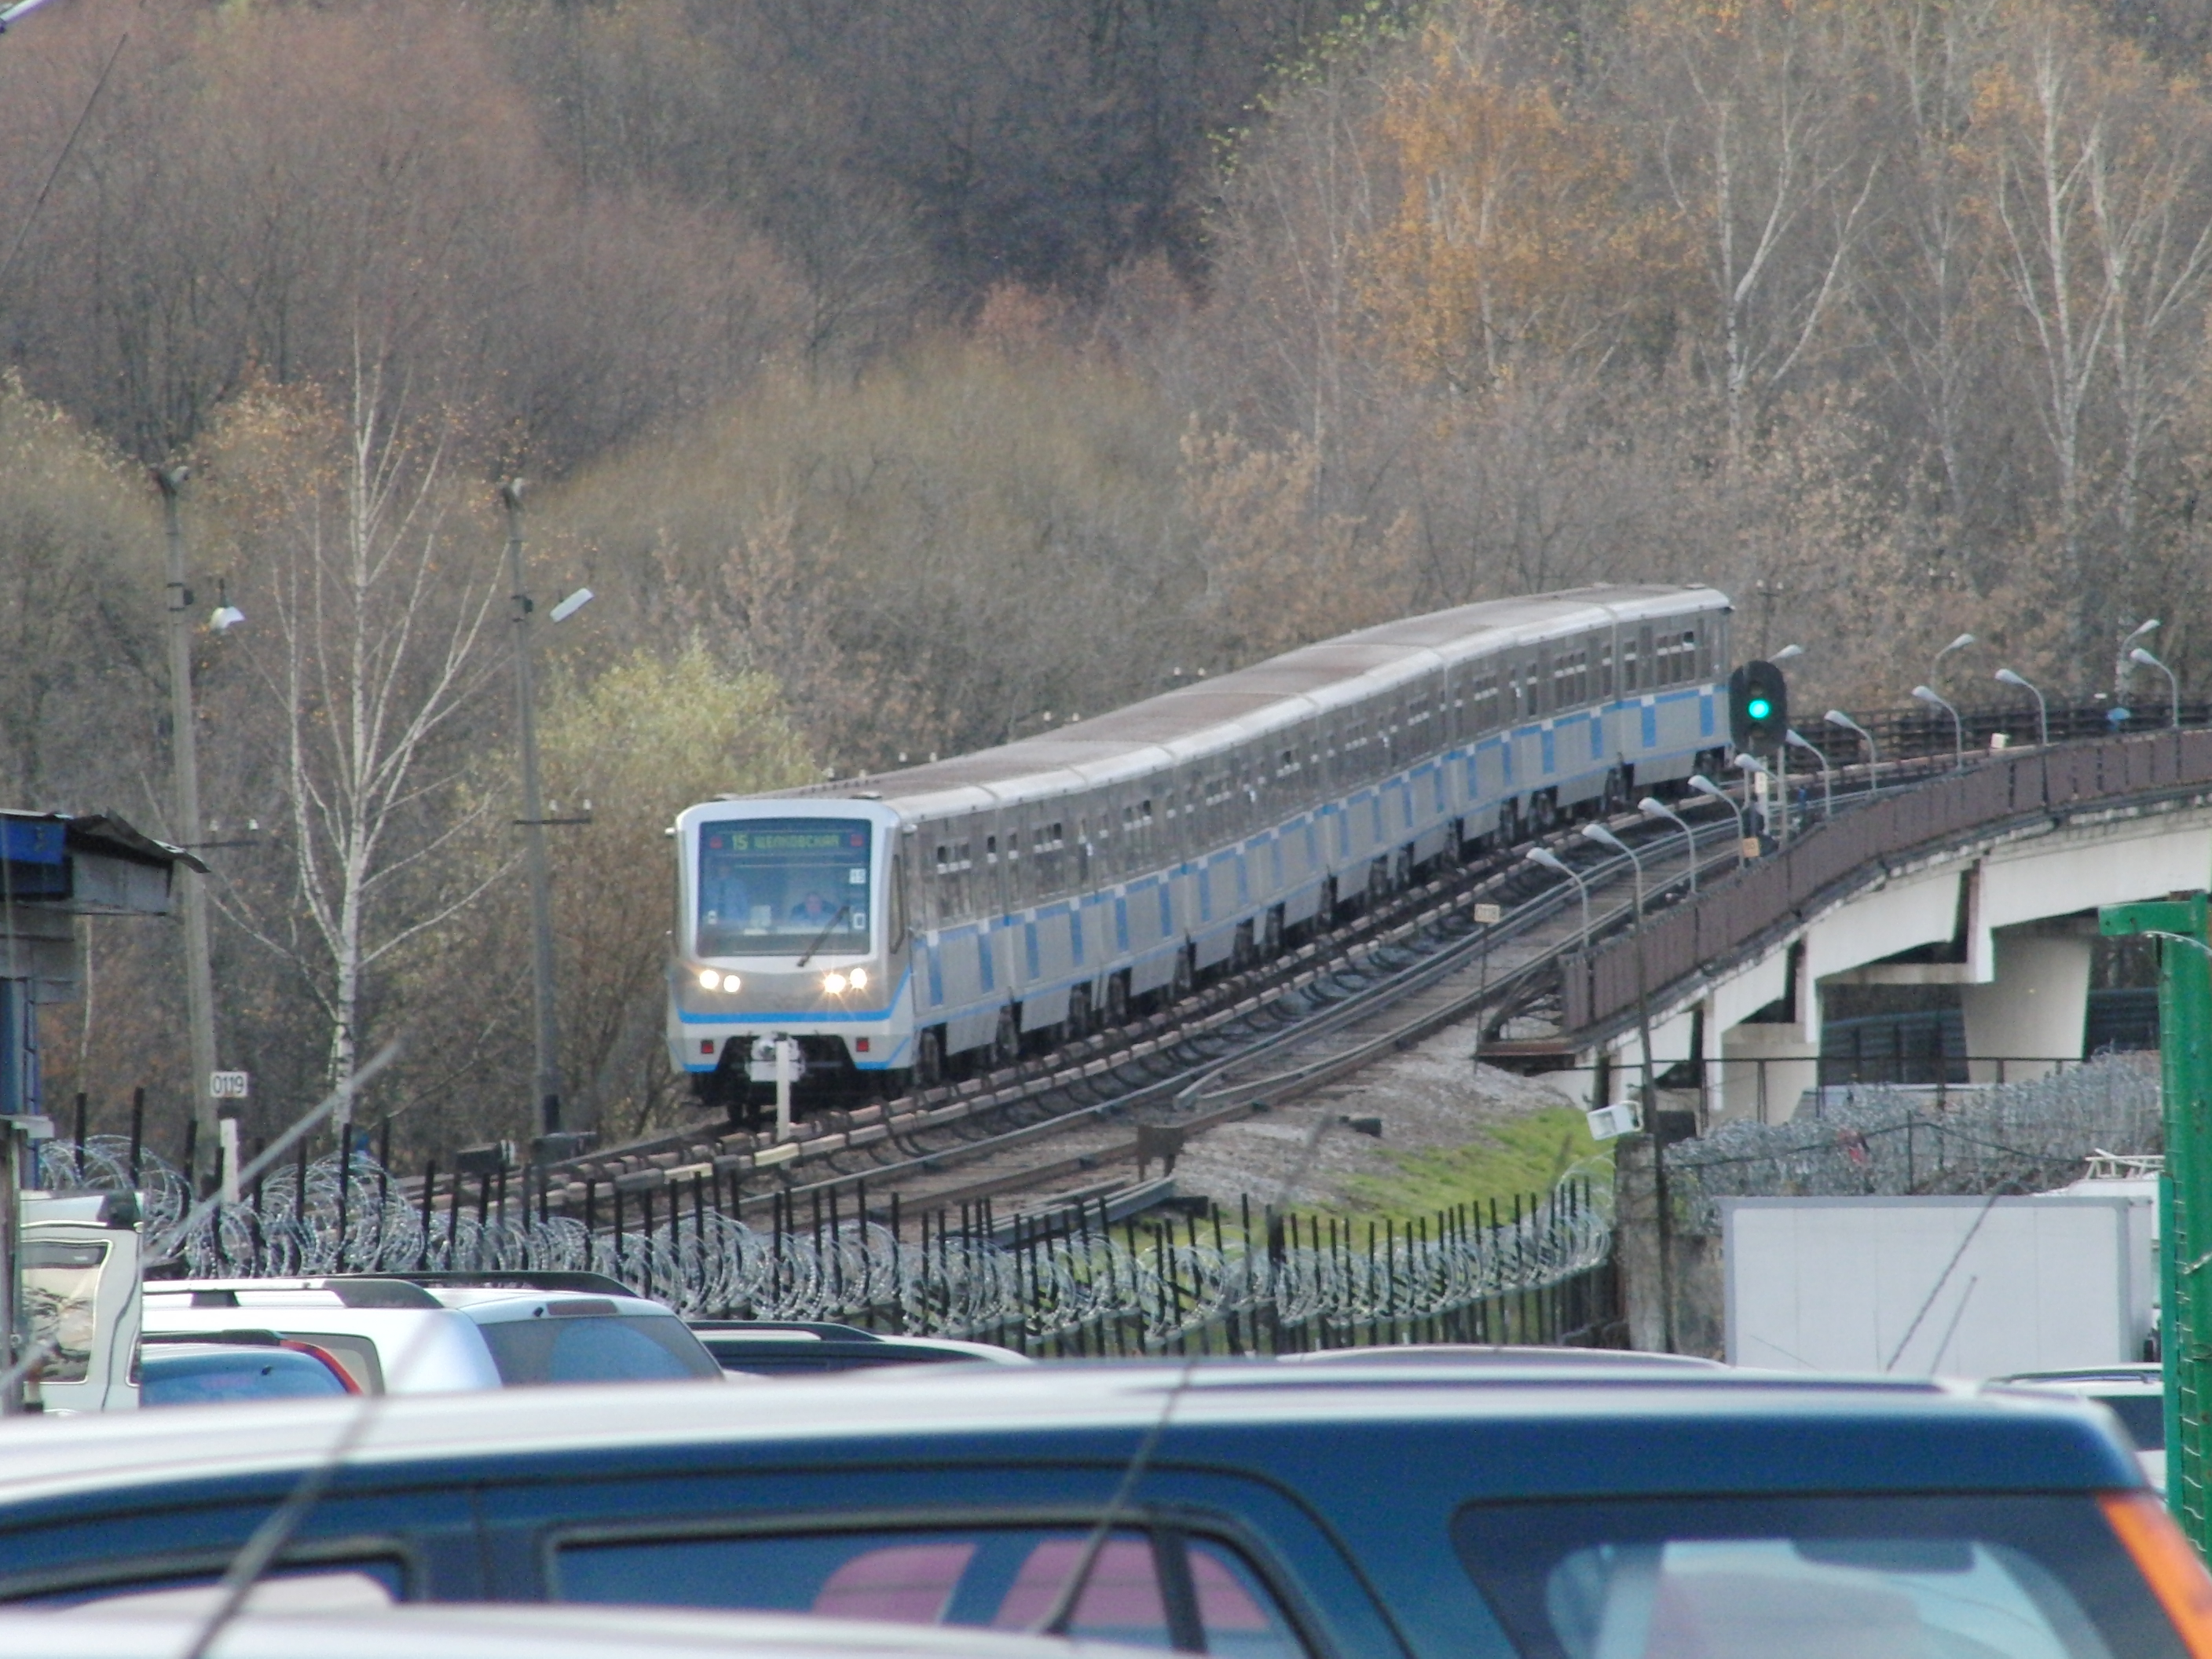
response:
[[[849,956],[867,949],[865,818],[699,825],[699,956]]]

